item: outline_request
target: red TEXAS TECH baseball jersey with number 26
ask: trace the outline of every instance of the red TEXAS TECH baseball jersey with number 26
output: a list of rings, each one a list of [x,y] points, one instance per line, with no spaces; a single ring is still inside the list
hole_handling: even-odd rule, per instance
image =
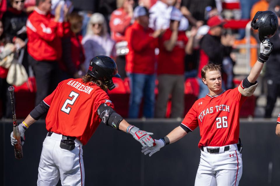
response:
[[[238,91],[238,87],[217,96],[207,94],[195,101],[182,124],[191,131],[199,126],[199,148],[236,144],[239,137],[239,112],[246,98]]]

